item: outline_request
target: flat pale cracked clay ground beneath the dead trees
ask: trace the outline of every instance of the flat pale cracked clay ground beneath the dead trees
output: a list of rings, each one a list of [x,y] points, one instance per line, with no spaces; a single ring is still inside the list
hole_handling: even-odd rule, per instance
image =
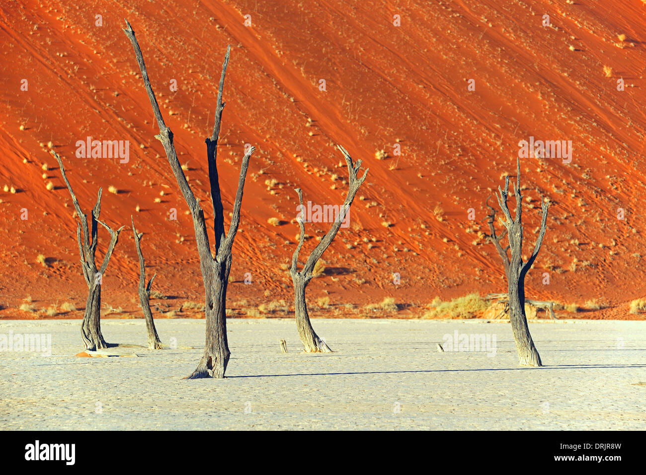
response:
[[[646,382],[643,321],[531,322],[547,367],[523,369],[508,323],[315,319],[337,352],[311,355],[291,319],[229,320],[229,377],[219,381],[181,379],[200,358],[203,320],[158,320],[162,341],[176,338],[178,349],[114,350],[137,355],[129,358],[72,356],[80,323],[0,321],[0,334],[52,335],[52,356],[0,355],[0,429],[646,427],[646,385],[634,384]],[[495,356],[437,352],[454,330],[495,334]],[[146,343],[140,319],[104,320],[103,335]]]

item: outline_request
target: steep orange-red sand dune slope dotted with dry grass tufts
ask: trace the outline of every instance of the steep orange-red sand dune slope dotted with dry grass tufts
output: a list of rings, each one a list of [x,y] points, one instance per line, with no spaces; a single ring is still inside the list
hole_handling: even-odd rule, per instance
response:
[[[102,26],[95,24],[98,14]],[[544,14],[551,27],[541,25]],[[328,270],[311,283],[309,298],[365,305],[392,296],[411,305],[399,312],[409,316],[435,296],[505,291],[495,249],[477,229],[487,231],[486,197],[515,172],[518,141],[534,136],[572,140],[574,152],[569,164],[521,161],[526,252],[536,239],[539,200],[552,200],[527,296],[579,305],[599,299],[610,308],[579,316],[641,318],[628,305],[646,294],[645,14],[640,0],[5,2],[0,302],[6,308],[0,317],[43,317],[16,309],[27,296],[36,308],[85,304],[76,220],[48,142],[63,157],[81,208],[89,212],[103,187],[103,221],[127,225],[103,279],[103,302],[139,315],[131,214],[145,233],[149,273],[158,274],[153,288],[177,297],[163,302],[177,308],[203,300],[193,227],[154,138],[151,106],[121,30],[127,18],[207,225],[204,139],[231,45],[218,154],[227,212],[244,144],[256,153],[233,248],[230,307],[244,307],[242,299],[247,307],[291,301],[291,279],[281,265],[291,260],[298,232],[290,222],[293,188],[303,189],[305,201],[342,202],[347,170],[339,167],[337,143],[370,174],[351,208],[350,227],[323,256]],[[251,15],[251,26],[244,15]],[[401,16],[401,26],[393,25],[393,15]],[[623,43],[619,34],[626,35]],[[612,68],[609,77],[604,66]],[[620,78],[623,91],[616,87]],[[326,91],[319,90],[320,79]],[[468,91],[468,79],[475,79],[475,91]],[[129,163],[77,158],[76,141],[87,136],[128,140]],[[377,159],[377,150],[388,157]],[[5,184],[16,193],[2,191]],[[176,221],[169,219],[171,208]],[[468,220],[469,208],[475,221]],[[271,217],[286,223],[275,227],[267,223]],[[322,236],[328,227],[308,223],[306,232]],[[108,239],[99,230],[99,259]],[[307,241],[309,249],[314,242]],[[46,266],[37,263],[39,254]],[[251,285],[244,283],[246,272]],[[393,284],[393,272],[401,274],[400,285]],[[550,273],[549,285],[543,272]]]

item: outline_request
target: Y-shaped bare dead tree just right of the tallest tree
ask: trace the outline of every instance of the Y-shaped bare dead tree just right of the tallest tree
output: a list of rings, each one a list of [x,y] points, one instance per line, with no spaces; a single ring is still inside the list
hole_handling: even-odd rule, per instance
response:
[[[298,193],[298,201],[300,201],[300,215],[298,217],[298,225],[300,225],[300,238],[298,239],[298,246],[294,251],[294,255],[291,258],[291,279],[294,283],[294,310],[296,314],[296,325],[298,328],[298,336],[300,336],[300,341],[302,341],[305,351],[307,353],[329,353],[332,350],[329,349],[328,345],[314,332],[314,328],[309,321],[309,314],[307,314],[307,303],[305,300],[305,289],[307,284],[312,279],[312,271],[316,265],[318,259],[323,255],[329,245],[332,243],[332,240],[337,236],[341,223],[343,222],[346,214],[349,211],[350,205],[352,205],[353,199],[357,194],[357,190],[362,185],[366,176],[368,175],[368,170],[364,172],[362,177],[357,178],[357,173],[361,167],[361,160],[357,163],[353,163],[351,157],[348,154],[348,151],[337,145],[339,150],[342,152],[343,156],[346,158],[346,164],[348,165],[348,174],[349,174],[349,189],[348,196],[346,196],[346,201],[344,201],[342,207],[339,209],[339,214],[337,215],[334,223],[332,224],[328,234],[326,234],[323,239],[320,240],[317,247],[309,254],[306,263],[303,265],[302,270],[298,271],[298,254],[300,249],[303,247],[303,241],[305,240],[305,225],[304,225],[304,208],[303,208],[303,192],[300,188],[296,188]]]

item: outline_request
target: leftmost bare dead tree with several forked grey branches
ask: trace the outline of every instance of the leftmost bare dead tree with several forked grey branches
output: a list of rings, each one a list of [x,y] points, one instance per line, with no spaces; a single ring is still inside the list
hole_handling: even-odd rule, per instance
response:
[[[74,203],[74,208],[76,209],[76,214],[79,220],[76,227],[76,240],[79,245],[79,254],[81,254],[83,277],[85,278],[85,283],[87,283],[88,288],[88,296],[85,301],[85,313],[83,314],[83,323],[81,323],[81,338],[83,338],[83,343],[85,344],[86,349],[96,351],[109,346],[101,334],[101,285],[103,284],[103,275],[105,274],[105,270],[108,268],[110,256],[112,256],[112,251],[119,239],[119,233],[124,227],[122,226],[118,230],[113,231],[107,224],[103,223],[103,221],[99,221],[102,192],[102,188],[99,188],[96,205],[92,208],[91,225],[90,228],[88,228],[87,215],[81,211],[78,199],[76,199],[74,190],[72,190],[72,185],[70,185],[67,175],[65,174],[63,161],[56,152],[52,153],[54,154],[54,157],[56,157],[58,166],[61,168],[63,181],[65,181],[65,185],[67,185],[70,196],[72,196],[72,203]],[[110,233],[110,244],[105,252],[105,256],[103,256],[103,263],[101,263],[101,267],[99,268],[96,267],[95,263],[96,247],[99,243],[98,223],[101,223],[101,225]],[[91,233],[90,236],[89,232]],[[81,234],[83,234],[82,239]],[[91,241],[90,238],[92,239]]]

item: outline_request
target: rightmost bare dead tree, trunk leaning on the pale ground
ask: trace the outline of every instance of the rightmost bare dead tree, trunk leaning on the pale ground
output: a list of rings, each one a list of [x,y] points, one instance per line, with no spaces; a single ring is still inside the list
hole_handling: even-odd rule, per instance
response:
[[[520,364],[523,366],[542,366],[541,357],[534,346],[532,336],[530,335],[529,328],[527,327],[527,318],[525,316],[525,276],[532,267],[532,264],[538,256],[538,251],[543,243],[545,230],[547,228],[547,209],[549,202],[541,199],[541,209],[543,217],[541,219],[541,229],[536,239],[536,245],[532,251],[530,258],[523,262],[523,196],[521,196],[520,180],[521,180],[521,164],[520,159],[517,159],[517,176],[514,185],[514,196],[516,198],[516,216],[512,219],[509,207],[507,206],[507,196],[509,190],[509,177],[505,178],[505,190],[498,187],[499,195],[496,195],[498,204],[505,214],[506,221],[505,227],[509,237],[509,244],[512,250],[512,258],[509,263],[509,270],[507,272],[508,281],[508,294],[509,294],[509,319],[512,323],[512,330],[514,332],[514,340],[516,341],[516,350],[518,351],[518,358]]]

